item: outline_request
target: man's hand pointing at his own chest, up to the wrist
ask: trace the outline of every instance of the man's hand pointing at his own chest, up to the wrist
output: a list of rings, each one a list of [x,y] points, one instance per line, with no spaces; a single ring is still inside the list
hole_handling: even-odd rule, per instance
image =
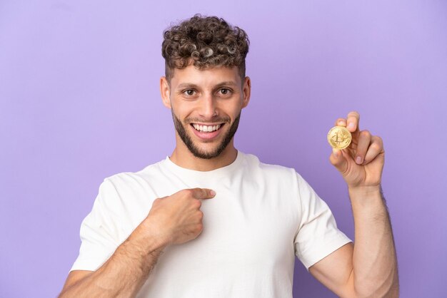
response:
[[[153,235],[166,239],[167,245],[193,240],[204,229],[201,200],[211,199],[215,195],[213,190],[192,188],[158,198],[154,200],[144,225]]]

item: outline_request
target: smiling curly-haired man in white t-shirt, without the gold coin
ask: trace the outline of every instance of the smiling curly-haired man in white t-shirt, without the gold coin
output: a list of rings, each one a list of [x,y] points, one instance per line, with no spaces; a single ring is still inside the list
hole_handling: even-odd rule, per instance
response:
[[[196,15],[164,32],[163,103],[176,148],[101,184],[60,297],[291,297],[295,255],[341,297],[397,297],[396,251],[381,196],[381,138],[359,130],[333,150],[348,185],[356,245],[295,170],[233,145],[251,81],[248,37]]]

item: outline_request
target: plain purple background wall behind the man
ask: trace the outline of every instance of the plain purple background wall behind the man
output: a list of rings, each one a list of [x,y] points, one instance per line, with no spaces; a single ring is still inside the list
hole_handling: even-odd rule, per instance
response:
[[[54,297],[101,181],[174,149],[162,31],[195,13],[248,32],[236,147],[293,167],[353,239],[326,133],[361,113],[386,148],[401,297],[446,297],[446,1],[0,1],[0,297]],[[294,297],[335,297],[296,263]]]

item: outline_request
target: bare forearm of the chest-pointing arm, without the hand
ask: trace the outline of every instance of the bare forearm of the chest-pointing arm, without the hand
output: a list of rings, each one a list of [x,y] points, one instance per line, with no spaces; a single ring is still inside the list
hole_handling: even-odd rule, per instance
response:
[[[135,297],[166,247],[166,242],[150,237],[141,225],[99,269],[71,284],[59,297]]]

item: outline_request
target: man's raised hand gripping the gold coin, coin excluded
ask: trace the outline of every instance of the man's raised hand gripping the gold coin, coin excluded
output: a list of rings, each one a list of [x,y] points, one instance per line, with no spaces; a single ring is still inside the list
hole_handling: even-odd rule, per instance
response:
[[[357,112],[336,120],[335,125],[348,128],[352,141],[348,148],[333,149],[329,160],[343,175],[350,189],[380,187],[385,162],[383,141],[368,130],[360,130],[359,121]]]

